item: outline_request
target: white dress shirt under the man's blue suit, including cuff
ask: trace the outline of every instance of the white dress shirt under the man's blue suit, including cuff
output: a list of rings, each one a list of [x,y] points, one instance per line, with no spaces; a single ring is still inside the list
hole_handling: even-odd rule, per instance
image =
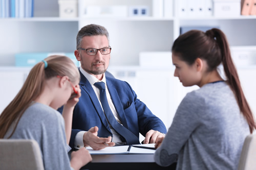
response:
[[[110,106],[110,109],[112,111],[112,113],[114,114],[116,120],[118,123],[121,123],[120,119],[119,119],[119,115],[117,114],[116,112],[116,109],[115,109],[115,106],[112,102],[112,99],[111,99],[111,96],[110,96],[110,93],[109,93],[109,90],[108,90],[108,86],[106,85],[106,78],[105,78],[105,74],[103,74],[103,78],[101,81],[99,81],[96,77],[94,77],[93,75],[90,75],[88,72],[84,71],[81,67],[79,68],[79,70],[82,72],[83,76],[87,78],[87,80],[90,82],[98,100],[99,100],[99,103],[101,105],[101,102],[100,102],[100,95],[99,95],[99,89],[94,86],[94,83],[96,82],[104,82],[105,83],[105,87],[106,87],[106,98],[108,99],[108,103],[109,103],[109,106]],[[102,108],[102,106],[101,106]],[[103,108],[102,108],[103,110]],[[112,142],[115,142],[116,145],[123,145],[123,144],[126,144],[126,142],[122,142],[121,139],[120,139],[120,135],[111,127],[111,125],[109,124],[110,126],[110,130],[113,134],[113,139],[112,139]],[[75,137],[75,148],[76,149],[79,149],[81,147],[84,147],[84,144],[83,144],[83,135],[84,133],[86,133],[86,131],[80,131],[76,134],[76,137]]]

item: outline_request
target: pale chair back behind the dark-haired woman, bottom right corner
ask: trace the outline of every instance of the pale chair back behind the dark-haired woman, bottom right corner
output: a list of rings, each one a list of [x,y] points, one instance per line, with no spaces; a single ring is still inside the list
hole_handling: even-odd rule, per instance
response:
[[[256,135],[248,135],[245,138],[241,152],[238,170],[256,169]]]

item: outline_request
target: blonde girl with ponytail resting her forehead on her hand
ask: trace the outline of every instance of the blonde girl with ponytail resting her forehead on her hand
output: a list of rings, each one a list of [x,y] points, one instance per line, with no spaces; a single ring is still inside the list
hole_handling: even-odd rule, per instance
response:
[[[0,115],[0,138],[36,140],[45,169],[80,169],[90,162],[85,148],[72,152],[71,160],[68,156],[73,109],[81,95],[79,80],[77,67],[66,56],[37,63]],[[61,115],[56,109],[62,105]]]

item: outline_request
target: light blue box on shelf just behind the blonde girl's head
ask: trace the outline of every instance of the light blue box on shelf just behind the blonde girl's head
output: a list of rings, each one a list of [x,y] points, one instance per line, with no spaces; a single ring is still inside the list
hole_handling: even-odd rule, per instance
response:
[[[18,53],[15,54],[15,66],[31,67],[51,55],[67,56],[76,66],[80,64],[74,53]]]

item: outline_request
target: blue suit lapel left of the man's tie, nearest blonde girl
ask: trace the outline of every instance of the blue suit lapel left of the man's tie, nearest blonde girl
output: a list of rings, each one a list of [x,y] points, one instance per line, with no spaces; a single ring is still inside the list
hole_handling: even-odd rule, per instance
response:
[[[103,125],[109,130],[110,133],[111,130],[110,130],[110,127],[109,127],[109,124],[108,124],[108,120],[106,120],[106,117],[104,115],[104,112],[101,108],[101,105],[99,103],[99,100],[90,84],[90,82],[86,79],[86,77],[84,77],[81,73],[81,71],[79,70],[80,72],[80,75],[81,75],[81,80],[80,80],[80,87],[81,87],[81,90],[84,90],[88,93],[88,95],[90,96],[91,98],[91,101],[101,119],[101,122],[103,123]]]

